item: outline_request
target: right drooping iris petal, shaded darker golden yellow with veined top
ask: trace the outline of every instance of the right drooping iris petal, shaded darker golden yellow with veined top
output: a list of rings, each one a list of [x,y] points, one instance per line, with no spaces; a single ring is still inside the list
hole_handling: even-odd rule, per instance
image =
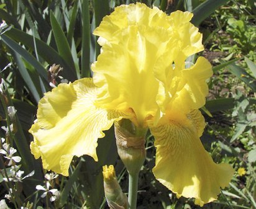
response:
[[[173,120],[175,119],[175,120]],[[153,174],[178,197],[195,198],[197,205],[216,200],[220,188],[229,184],[234,170],[216,164],[203,148],[199,136],[204,118],[193,110],[186,118],[168,115],[158,127],[151,127],[157,148]]]

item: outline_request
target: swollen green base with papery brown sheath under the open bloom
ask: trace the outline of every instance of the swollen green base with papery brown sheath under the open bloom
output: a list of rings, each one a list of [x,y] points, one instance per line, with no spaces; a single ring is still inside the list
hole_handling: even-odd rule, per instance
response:
[[[147,129],[135,127],[130,120],[122,119],[115,124],[117,152],[129,174],[139,173],[145,158],[145,134]]]

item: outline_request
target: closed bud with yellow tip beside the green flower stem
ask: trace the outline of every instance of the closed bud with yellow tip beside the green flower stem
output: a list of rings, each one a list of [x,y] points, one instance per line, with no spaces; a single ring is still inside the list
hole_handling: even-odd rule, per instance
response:
[[[104,192],[110,209],[128,209],[128,200],[117,181],[114,166],[103,166]]]

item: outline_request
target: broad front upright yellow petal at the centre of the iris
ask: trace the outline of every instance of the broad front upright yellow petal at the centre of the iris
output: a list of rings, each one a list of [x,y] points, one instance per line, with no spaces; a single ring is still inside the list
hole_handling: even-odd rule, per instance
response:
[[[99,102],[110,109],[132,109],[137,124],[144,126],[145,118],[157,109],[159,82],[153,68],[163,51],[170,49],[170,32],[129,26],[118,36],[120,42],[105,45],[92,65],[94,84],[106,89],[106,99]]]

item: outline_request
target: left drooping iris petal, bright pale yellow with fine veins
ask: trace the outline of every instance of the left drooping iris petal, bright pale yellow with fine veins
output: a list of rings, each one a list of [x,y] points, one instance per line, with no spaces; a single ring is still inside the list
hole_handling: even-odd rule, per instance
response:
[[[128,117],[95,107],[98,91],[93,80],[85,78],[60,84],[40,100],[37,122],[29,130],[34,136],[30,149],[35,158],[42,158],[45,169],[68,176],[73,156],[88,154],[98,161],[97,140],[103,138],[103,130]]]

